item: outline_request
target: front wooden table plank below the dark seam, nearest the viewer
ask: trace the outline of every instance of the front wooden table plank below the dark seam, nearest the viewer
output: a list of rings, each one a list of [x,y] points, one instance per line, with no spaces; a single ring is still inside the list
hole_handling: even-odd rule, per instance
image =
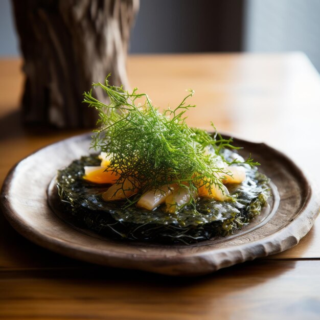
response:
[[[97,267],[0,271],[0,318],[316,320],[319,268],[260,260],[196,279]]]

